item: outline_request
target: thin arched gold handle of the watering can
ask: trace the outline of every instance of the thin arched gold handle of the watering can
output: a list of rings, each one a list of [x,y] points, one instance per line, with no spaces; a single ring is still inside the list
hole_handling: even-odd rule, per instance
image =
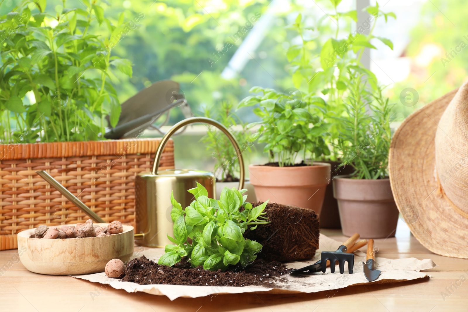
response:
[[[164,137],[161,139],[161,143],[158,146],[158,150],[156,151],[156,155],[154,155],[154,164],[153,164],[153,174],[157,174],[158,168],[159,168],[159,161],[161,160],[161,155],[162,155],[162,150],[164,149],[164,146],[169,141],[169,138],[180,128],[190,124],[190,123],[208,123],[219,130],[223,131],[224,134],[229,138],[231,141],[232,145],[234,146],[235,152],[237,154],[237,158],[239,159],[239,168],[240,168],[240,176],[239,176],[239,189],[244,188],[244,175],[245,175],[245,169],[244,169],[244,159],[242,158],[242,153],[239,148],[239,144],[237,144],[236,139],[234,136],[227,130],[225,126],[223,126],[221,123],[217,122],[216,120],[213,120],[211,118],[206,118],[206,117],[190,117],[187,119],[184,119],[181,122],[176,123],[167,133],[164,135]]]

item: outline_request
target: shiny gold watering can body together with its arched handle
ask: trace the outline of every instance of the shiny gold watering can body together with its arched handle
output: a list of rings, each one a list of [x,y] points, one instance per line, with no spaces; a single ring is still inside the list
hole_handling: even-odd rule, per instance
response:
[[[244,187],[244,160],[234,136],[216,120],[205,117],[191,117],[176,123],[161,139],[154,156],[151,173],[141,173],[135,177],[135,242],[148,247],[164,247],[171,242],[172,220],[170,218],[171,192],[183,208],[194,200],[187,190],[197,187],[197,182],[208,191],[208,197],[216,198],[216,177],[210,171],[168,169],[158,172],[162,150],[169,138],[180,128],[190,123],[208,123],[227,135],[234,146],[240,165],[239,189]]]

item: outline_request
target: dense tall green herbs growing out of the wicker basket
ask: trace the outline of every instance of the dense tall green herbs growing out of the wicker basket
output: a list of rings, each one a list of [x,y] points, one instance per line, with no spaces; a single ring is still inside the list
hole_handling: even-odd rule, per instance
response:
[[[75,8],[65,2],[50,15],[46,0],[24,1],[0,18],[2,143],[103,139],[106,126],[118,122],[111,79],[132,76],[129,60],[111,56],[124,14],[111,21],[104,17],[106,1],[83,0]],[[109,36],[90,33],[96,25]]]

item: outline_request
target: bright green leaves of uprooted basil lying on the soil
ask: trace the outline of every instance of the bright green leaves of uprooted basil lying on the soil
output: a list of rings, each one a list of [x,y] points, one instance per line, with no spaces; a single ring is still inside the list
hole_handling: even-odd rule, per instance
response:
[[[174,244],[166,245],[158,264],[173,266],[187,257],[192,267],[202,265],[205,270],[216,271],[237,263],[243,267],[252,263],[262,245],[245,239],[243,233],[250,225],[254,230],[259,224],[270,223],[263,212],[268,201],[252,208],[246,202],[247,195],[242,196],[245,191],[226,187],[215,200],[208,198],[206,189],[197,182],[196,188],[189,189],[195,200],[185,210],[172,192],[174,237],[168,235],[168,239]]]

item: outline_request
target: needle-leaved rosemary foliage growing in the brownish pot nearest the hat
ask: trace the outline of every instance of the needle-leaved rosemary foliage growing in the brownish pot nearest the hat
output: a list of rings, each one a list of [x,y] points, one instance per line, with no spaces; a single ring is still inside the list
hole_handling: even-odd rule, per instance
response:
[[[353,70],[348,73],[346,114],[337,118],[343,125],[336,143],[343,153],[341,165],[351,165],[355,179],[386,178],[392,138],[390,122],[394,120],[392,105],[382,95],[382,87],[372,87],[377,83],[370,82],[372,78]]]

